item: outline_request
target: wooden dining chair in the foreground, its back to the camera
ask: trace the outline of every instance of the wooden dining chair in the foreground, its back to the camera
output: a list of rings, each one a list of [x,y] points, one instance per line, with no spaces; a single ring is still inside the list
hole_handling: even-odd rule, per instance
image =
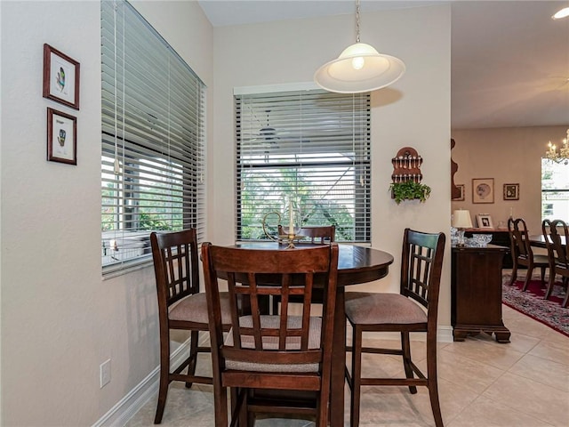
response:
[[[205,294],[210,314],[215,425],[252,425],[256,413],[316,417],[328,423],[338,246],[267,250],[202,246]],[[231,330],[223,336],[218,279],[228,281]],[[311,312],[315,280],[325,287],[322,316]],[[278,295],[278,315],[263,315],[260,299]],[[289,310],[303,299],[300,314]],[[249,313],[242,307],[251,308]],[[289,392],[289,399],[282,396]],[[310,392],[312,399],[300,399]]]

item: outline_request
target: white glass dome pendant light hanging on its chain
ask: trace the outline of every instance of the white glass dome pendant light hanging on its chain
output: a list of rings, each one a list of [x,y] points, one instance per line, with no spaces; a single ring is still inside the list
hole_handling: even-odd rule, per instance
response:
[[[351,44],[336,60],[317,69],[314,81],[330,92],[361,93],[397,82],[405,73],[405,63],[377,52],[359,41],[359,0],[356,0],[356,44]]]

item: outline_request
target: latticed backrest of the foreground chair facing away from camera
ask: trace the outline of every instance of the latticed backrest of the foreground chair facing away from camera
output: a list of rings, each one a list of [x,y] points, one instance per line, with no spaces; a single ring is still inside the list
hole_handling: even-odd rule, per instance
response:
[[[315,277],[324,275],[328,284],[326,303],[333,308],[338,268],[335,244],[279,251],[204,244],[202,252],[206,294],[212,312],[218,310],[214,284],[218,278],[228,280],[231,339],[216,342],[220,359],[271,365],[322,362],[321,342],[325,339],[326,327],[332,336],[333,317],[322,320],[320,336],[315,340],[310,335],[311,326],[320,320],[312,315],[310,302]],[[329,270],[333,275],[331,272],[329,276]],[[260,299],[268,295],[281,298],[279,314],[262,313]],[[300,296],[304,302],[300,314],[292,314],[291,295]],[[250,312],[243,312],[243,307],[250,307]],[[219,324],[219,320],[215,323]],[[219,334],[216,336],[221,339]]]

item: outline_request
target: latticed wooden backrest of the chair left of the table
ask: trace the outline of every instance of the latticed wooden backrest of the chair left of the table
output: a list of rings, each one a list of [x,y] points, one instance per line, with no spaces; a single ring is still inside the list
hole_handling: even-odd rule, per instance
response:
[[[158,303],[166,307],[199,292],[196,230],[152,233]]]

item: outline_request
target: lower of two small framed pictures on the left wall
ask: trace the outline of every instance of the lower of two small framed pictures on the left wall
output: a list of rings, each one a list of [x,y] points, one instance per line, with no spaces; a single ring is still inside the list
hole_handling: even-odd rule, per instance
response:
[[[47,109],[47,159],[77,164],[77,117]]]

